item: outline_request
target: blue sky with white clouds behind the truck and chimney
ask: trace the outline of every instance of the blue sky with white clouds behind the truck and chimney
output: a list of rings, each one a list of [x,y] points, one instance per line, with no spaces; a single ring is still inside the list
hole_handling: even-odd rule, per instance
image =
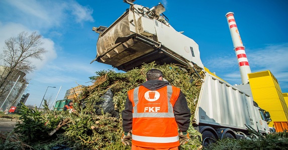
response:
[[[227,12],[234,12],[252,72],[270,70],[282,92],[288,92],[287,0],[136,0],[166,8],[169,23],[199,44],[203,64],[231,84],[241,83]],[[43,35],[49,51],[37,69],[27,74],[30,93],[26,104],[39,106],[45,98],[63,99],[67,89],[90,85],[89,76],[112,66],[90,61],[96,56],[98,33],[92,27],[109,26],[129,4],[123,0],[0,0],[0,47],[21,31]],[[2,52],[2,48],[0,49]],[[117,69],[115,69],[118,71]]]

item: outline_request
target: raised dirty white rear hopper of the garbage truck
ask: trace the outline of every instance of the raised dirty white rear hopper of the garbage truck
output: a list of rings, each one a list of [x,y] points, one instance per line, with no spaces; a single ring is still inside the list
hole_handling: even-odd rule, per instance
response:
[[[124,0],[130,8],[109,27],[93,27],[99,33],[94,60],[128,71],[143,63],[176,63],[204,68],[198,44],[176,31],[163,14],[163,4],[148,8]]]

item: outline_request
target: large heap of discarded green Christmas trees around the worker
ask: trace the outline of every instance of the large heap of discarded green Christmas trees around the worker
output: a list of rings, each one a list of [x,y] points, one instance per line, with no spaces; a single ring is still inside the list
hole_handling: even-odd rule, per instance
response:
[[[18,144],[28,149],[130,149],[121,142],[121,111],[125,106],[127,91],[143,83],[146,72],[151,68],[160,69],[170,84],[181,88],[193,117],[202,85],[199,76],[201,70],[196,73],[196,69],[152,62],[128,72],[95,72],[96,75],[90,77],[92,84],[74,100],[75,111],[71,113],[50,111],[46,101],[45,112],[22,107],[22,122],[6,140],[9,138],[16,142],[17,138]],[[188,132],[191,140],[179,148],[199,148],[201,134],[192,125]]]

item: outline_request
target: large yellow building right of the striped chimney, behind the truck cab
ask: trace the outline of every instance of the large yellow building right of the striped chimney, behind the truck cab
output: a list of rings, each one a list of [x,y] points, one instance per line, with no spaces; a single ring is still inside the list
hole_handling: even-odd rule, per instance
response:
[[[282,93],[274,75],[266,70],[249,73],[248,77],[253,99],[261,108],[270,112],[272,122],[269,126],[273,127],[273,121],[288,121],[288,96]]]

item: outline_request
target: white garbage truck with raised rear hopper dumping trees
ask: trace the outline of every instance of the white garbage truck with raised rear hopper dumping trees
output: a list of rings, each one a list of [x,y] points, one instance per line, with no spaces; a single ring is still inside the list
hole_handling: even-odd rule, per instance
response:
[[[97,56],[92,62],[96,60],[124,71],[152,61],[201,68],[205,77],[193,125],[202,133],[203,145],[224,137],[249,138],[246,125],[262,134],[269,133],[269,113],[251,95],[204,69],[198,44],[168,23],[161,3],[148,8],[126,2],[130,8],[113,24],[93,27],[100,35]]]

